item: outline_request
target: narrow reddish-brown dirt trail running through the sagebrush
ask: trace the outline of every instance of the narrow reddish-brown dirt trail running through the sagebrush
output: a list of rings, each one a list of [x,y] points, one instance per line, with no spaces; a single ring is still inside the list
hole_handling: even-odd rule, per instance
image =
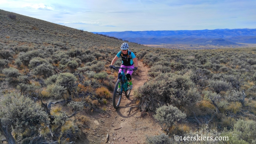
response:
[[[133,89],[137,89],[148,79],[148,68],[141,61],[139,61],[138,69],[139,75],[132,76]],[[105,137],[108,130],[109,143],[112,144],[143,144],[146,135],[152,136],[162,133],[161,126],[155,122],[152,113],[146,113],[144,117],[140,117],[140,111],[137,108],[132,108],[128,116],[130,108],[137,106],[133,91],[128,98],[125,95],[122,96],[118,109],[113,108],[112,100],[108,102],[108,111],[102,115],[93,116],[95,119],[91,121],[90,126],[94,129],[88,134],[89,143],[106,143]]]

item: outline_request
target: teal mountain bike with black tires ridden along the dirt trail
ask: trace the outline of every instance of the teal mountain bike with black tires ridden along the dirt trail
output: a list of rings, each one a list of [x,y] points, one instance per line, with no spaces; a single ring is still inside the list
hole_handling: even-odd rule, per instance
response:
[[[116,68],[120,68],[120,67],[113,67],[113,69],[116,69]],[[116,81],[116,86],[115,86],[114,93],[113,93],[113,107],[114,108],[119,107],[123,91],[124,91],[124,94],[126,97],[129,97],[129,95],[131,93],[130,83],[124,74],[124,69],[126,69],[126,71],[134,70],[134,69],[133,68],[121,68],[121,69],[122,69],[122,71],[121,71],[121,74],[118,75],[118,79]],[[120,92],[117,92],[118,86],[120,88]]]

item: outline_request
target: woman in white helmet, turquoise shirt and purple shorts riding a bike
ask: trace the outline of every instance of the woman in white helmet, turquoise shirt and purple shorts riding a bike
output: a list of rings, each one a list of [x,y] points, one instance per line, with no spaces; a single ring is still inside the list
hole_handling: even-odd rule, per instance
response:
[[[116,60],[121,57],[122,64],[121,68],[134,68],[134,70],[138,69],[138,60],[133,52],[128,50],[129,45],[127,43],[123,43],[121,45],[121,51],[117,53],[116,57],[112,60],[111,65],[109,68],[113,68],[113,65],[115,64]],[[133,63],[134,61],[134,63]],[[122,69],[119,69],[118,75],[121,74]],[[126,77],[130,83],[130,90],[132,90],[132,72],[131,70],[127,70]],[[125,69],[124,69],[125,73]],[[120,88],[118,87],[117,91],[120,91]]]

